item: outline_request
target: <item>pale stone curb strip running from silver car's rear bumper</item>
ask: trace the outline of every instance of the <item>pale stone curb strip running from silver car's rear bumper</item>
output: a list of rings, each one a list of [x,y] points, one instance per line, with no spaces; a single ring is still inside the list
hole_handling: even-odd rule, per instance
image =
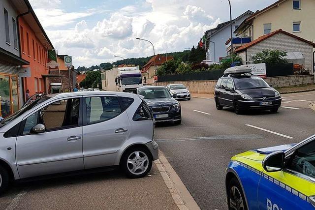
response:
[[[169,164],[163,152],[160,150],[159,159],[154,161],[158,167],[167,188],[179,210],[200,210],[196,201],[190,195],[188,189]]]

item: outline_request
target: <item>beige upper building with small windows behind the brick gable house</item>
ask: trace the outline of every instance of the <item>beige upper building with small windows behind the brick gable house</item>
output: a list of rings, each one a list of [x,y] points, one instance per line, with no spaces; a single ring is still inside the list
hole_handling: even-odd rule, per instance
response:
[[[314,11],[315,0],[278,0],[247,18],[235,33],[255,40],[282,29],[315,42]]]

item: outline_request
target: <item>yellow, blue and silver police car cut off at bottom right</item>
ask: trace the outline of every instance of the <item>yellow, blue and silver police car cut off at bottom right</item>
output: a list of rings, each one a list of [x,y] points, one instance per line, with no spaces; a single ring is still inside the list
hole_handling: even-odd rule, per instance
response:
[[[232,157],[225,186],[229,210],[315,210],[315,135]]]

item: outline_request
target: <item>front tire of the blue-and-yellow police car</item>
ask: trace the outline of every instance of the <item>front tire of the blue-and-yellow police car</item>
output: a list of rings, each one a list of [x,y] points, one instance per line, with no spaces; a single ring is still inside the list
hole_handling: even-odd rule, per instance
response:
[[[228,182],[227,205],[229,210],[248,210],[242,187],[235,177]]]

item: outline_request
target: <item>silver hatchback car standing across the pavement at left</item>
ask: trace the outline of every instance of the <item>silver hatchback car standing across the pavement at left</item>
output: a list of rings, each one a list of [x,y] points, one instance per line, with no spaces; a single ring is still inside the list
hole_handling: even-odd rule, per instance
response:
[[[0,192],[10,180],[120,166],[130,178],[158,159],[143,97],[71,92],[37,98],[0,122]]]

